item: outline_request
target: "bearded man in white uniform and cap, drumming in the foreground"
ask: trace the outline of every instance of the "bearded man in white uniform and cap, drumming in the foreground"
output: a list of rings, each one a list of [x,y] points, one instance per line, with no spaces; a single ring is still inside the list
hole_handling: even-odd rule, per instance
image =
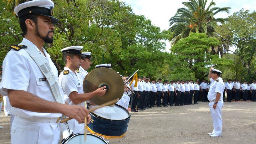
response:
[[[0,93],[9,97],[15,115],[11,126],[13,144],[58,144],[58,119],[62,114],[79,123],[84,117],[87,123],[90,121],[86,108],[64,104],[57,68],[43,48],[44,43],[53,42],[53,24],[58,22],[51,13],[53,7],[50,0],[35,0],[14,8],[24,38],[10,47],[3,61],[0,85]]]

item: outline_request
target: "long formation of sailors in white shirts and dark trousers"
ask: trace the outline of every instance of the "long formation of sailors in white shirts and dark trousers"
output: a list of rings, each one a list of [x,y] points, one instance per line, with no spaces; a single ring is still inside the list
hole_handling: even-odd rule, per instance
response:
[[[134,95],[131,96],[131,111],[138,112],[138,110],[146,110],[151,107],[168,107],[169,106],[184,106],[198,104],[198,100],[202,102],[209,102],[207,94],[211,87],[211,82],[203,80],[200,84],[199,81],[193,80],[164,80],[159,78],[156,82],[155,79],[148,77],[139,77],[138,86],[135,87],[135,80],[131,85],[134,90]],[[239,80],[224,83],[223,100],[225,100],[225,92],[227,93],[227,101],[231,102],[234,98],[236,101],[240,98],[240,93],[243,96],[243,101],[255,101],[256,84],[255,80],[247,84],[244,81],[240,84]],[[200,98],[199,98],[200,97]],[[136,109],[137,105],[137,109]]]

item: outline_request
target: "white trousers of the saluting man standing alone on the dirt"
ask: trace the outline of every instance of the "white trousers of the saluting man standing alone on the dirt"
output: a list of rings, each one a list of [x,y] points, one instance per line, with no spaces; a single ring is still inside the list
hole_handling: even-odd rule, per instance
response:
[[[214,102],[209,103],[211,116],[212,116],[212,124],[213,124],[213,131],[212,133],[221,136],[222,131],[222,118],[221,118],[221,109],[223,107],[223,100],[218,101],[216,109],[213,109]]]

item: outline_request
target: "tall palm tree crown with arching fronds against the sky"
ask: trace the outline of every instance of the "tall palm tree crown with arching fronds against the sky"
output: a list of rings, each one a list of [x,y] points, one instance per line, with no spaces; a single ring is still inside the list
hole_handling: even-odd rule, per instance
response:
[[[214,18],[219,12],[229,13],[230,7],[215,6],[213,0],[206,7],[207,0],[188,0],[182,2],[184,8],[179,8],[176,14],[170,18],[170,28],[172,32],[171,44],[174,45],[181,38],[189,36],[190,32],[205,33],[211,36],[218,26],[217,23],[224,23],[226,18]]]

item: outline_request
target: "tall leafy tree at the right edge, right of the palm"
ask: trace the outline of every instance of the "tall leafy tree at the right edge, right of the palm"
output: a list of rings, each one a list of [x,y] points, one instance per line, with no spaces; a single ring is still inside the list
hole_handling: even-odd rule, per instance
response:
[[[250,13],[248,10],[241,9],[229,18],[226,24],[221,28],[220,36],[229,38],[230,42],[236,49],[233,52],[239,61],[243,64],[242,75],[247,80],[252,80],[256,76],[255,55],[256,55],[256,12]],[[239,78],[239,77],[238,77]]]

